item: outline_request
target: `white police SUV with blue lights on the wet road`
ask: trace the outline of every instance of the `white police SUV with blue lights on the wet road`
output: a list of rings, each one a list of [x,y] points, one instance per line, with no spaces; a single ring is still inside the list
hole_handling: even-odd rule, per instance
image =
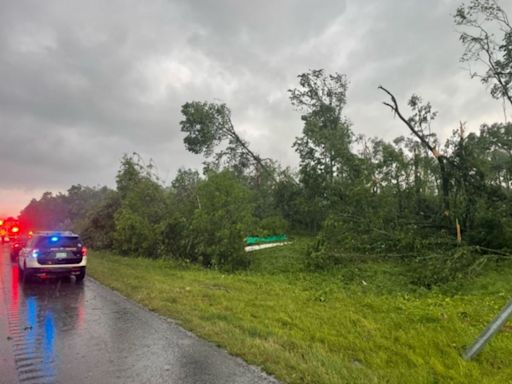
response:
[[[73,232],[35,232],[20,251],[18,265],[23,280],[73,275],[80,282],[85,277],[87,248]]]

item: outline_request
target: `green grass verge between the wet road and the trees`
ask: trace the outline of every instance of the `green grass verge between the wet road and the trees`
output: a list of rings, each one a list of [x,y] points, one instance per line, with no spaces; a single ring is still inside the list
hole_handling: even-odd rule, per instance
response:
[[[251,253],[225,274],[91,252],[91,276],[285,383],[509,383],[512,327],[471,362],[461,352],[510,295],[512,263],[427,291],[368,262],[306,272],[305,240]]]

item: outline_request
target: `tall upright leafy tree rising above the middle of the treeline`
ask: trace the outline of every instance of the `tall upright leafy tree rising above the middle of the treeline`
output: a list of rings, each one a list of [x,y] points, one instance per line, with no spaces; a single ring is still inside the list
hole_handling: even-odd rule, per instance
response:
[[[300,157],[300,181],[310,229],[316,230],[331,205],[339,204],[340,186],[353,182],[358,170],[350,150],[350,122],[343,116],[346,76],[319,69],[298,78],[299,86],[289,93],[292,105],[302,113],[304,128],[293,147]]]

